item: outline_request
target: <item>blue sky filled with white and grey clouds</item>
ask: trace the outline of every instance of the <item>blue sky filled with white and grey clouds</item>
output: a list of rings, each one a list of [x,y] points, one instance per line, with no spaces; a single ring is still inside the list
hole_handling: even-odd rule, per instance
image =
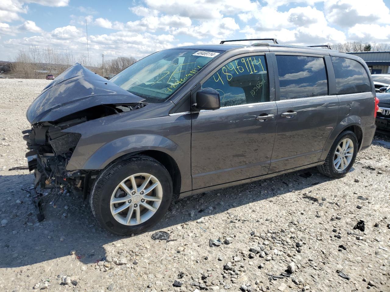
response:
[[[276,37],[288,44],[390,42],[390,0],[1,0],[0,60],[30,46],[141,58],[222,39]]]

